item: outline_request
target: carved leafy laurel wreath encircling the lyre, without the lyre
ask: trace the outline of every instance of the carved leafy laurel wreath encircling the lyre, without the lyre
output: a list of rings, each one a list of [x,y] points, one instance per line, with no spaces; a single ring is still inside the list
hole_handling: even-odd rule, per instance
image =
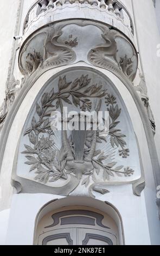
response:
[[[51,129],[50,114],[63,108],[63,103],[73,104],[82,111],[91,111],[92,98],[98,98],[99,103],[96,107],[100,108],[101,101],[104,99],[106,108],[110,113],[109,125],[109,143],[112,149],[119,149],[119,155],[126,158],[129,156],[129,149],[126,148],[125,135],[117,128],[120,123],[118,118],[121,109],[118,107],[115,96],[107,93],[102,85],[92,84],[88,75],[82,75],[73,82],[67,82],[66,76],[59,77],[58,92],[54,88],[49,93],[44,93],[41,97],[41,103],[36,105],[36,113],[39,117],[33,117],[31,126],[24,132],[24,136],[29,137],[31,146],[24,145],[27,162],[30,165],[30,172],[35,172],[34,179],[46,184],[55,182],[59,179],[68,180],[69,176],[78,179],[77,186],[86,187],[90,181],[97,181],[100,171],[103,172],[103,179],[106,181],[110,176],[130,176],[134,170],[130,167],[116,166],[117,162],[110,160],[110,155],[105,155],[102,150],[95,150],[97,143],[107,142],[107,138],[101,136],[101,132],[87,131],[84,148],[84,163],[76,163],[74,143],[72,137],[66,139],[65,132],[62,131],[62,147],[57,149],[54,142],[54,131]],[[67,133],[66,133],[67,134]],[[116,167],[115,167],[116,166]],[[86,178],[82,178],[86,175]]]

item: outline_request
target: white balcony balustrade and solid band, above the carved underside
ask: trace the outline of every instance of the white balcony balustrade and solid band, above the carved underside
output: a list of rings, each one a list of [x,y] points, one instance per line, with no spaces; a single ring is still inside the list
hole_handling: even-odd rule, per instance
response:
[[[36,29],[51,22],[93,18],[117,28],[133,41],[131,16],[117,0],[39,0],[28,11],[23,36],[27,38]]]

